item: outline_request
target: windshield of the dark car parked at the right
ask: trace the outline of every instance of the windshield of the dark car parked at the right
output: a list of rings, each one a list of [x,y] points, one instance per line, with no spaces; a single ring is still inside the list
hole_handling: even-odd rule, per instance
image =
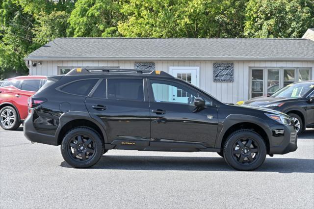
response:
[[[300,98],[314,88],[313,83],[292,83],[278,90],[270,97],[275,98]]]

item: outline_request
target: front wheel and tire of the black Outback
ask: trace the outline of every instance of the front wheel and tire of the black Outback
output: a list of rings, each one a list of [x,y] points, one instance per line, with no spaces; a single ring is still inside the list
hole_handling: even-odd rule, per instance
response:
[[[227,138],[223,154],[231,167],[240,171],[251,171],[262,165],[266,158],[267,148],[260,134],[243,129],[233,132]]]

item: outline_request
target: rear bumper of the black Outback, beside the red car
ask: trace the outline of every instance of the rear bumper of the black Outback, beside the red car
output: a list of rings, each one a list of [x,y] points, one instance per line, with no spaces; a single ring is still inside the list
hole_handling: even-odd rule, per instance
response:
[[[25,137],[31,142],[58,146],[58,138],[54,135],[39,133],[33,126],[32,114],[28,114],[24,121],[23,132]]]

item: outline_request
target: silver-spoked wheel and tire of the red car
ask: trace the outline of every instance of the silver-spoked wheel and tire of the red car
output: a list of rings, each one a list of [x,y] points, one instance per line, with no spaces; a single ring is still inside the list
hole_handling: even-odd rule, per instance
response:
[[[21,125],[19,115],[12,106],[0,110],[0,126],[4,130],[16,130]]]

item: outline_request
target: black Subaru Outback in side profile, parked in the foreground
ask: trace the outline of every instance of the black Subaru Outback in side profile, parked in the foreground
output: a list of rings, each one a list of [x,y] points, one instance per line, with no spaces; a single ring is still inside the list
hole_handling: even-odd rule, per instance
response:
[[[121,149],[217,152],[235,169],[254,170],[266,154],[297,149],[288,115],[223,104],[161,71],[73,69],[49,77],[29,112],[26,137],[61,145],[65,161],[77,168]]]

